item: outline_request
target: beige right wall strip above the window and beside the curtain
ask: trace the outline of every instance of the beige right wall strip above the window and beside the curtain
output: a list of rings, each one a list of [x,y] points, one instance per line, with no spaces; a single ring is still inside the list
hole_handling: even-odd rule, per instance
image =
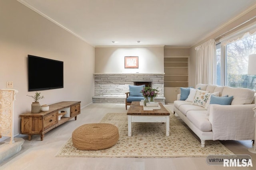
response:
[[[254,16],[256,16],[256,9],[253,9],[250,12],[248,12],[247,14],[244,14],[237,20],[233,21],[232,23],[228,24],[227,26],[223,27],[222,29],[216,31],[215,33],[213,33],[206,39],[202,40],[200,43],[198,43],[190,48],[190,86],[196,85],[196,50],[195,50],[195,47],[197,47],[198,45],[201,45],[202,43],[208,41],[209,39],[215,39],[217,37],[218,37],[218,39],[216,39],[216,42],[218,42],[220,35],[223,35],[224,33],[225,33],[224,36],[229,35],[229,34],[233,33],[234,31],[242,29],[246,25],[249,25],[250,23],[255,22],[256,18],[252,19]],[[250,20],[250,19],[252,19],[252,20]],[[248,20],[250,20],[250,21],[248,21]],[[248,21],[248,22],[246,22],[246,21]],[[244,22],[246,22],[246,23],[244,23]],[[242,23],[244,23],[244,24],[242,24]],[[235,27],[236,27],[236,29],[233,29]],[[233,30],[230,31],[231,29],[233,29]]]

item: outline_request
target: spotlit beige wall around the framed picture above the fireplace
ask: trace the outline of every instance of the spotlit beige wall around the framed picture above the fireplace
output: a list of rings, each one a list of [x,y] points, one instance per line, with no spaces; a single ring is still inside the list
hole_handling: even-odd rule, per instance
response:
[[[124,68],[124,56],[138,56],[139,68]],[[96,73],[163,73],[164,47],[97,47]]]

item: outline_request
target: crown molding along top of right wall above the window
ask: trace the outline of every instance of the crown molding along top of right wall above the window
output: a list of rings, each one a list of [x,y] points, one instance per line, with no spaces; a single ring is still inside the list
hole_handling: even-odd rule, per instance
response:
[[[232,18],[231,20],[223,23],[222,25],[220,25],[219,27],[217,27],[214,31],[208,33],[207,35],[205,35],[204,37],[202,37],[200,40],[196,41],[196,43],[194,43],[193,45],[190,45],[191,47],[194,47],[195,45],[197,45],[198,43],[200,43],[201,41],[204,41],[204,39],[210,37],[210,35],[213,35],[214,33],[220,31],[221,29],[223,29],[224,27],[228,26],[230,23],[238,20],[239,18],[241,18],[242,16],[244,16],[245,14],[247,14],[248,12],[254,10],[256,8],[256,2],[254,2],[249,8],[247,8],[246,10],[244,10],[243,12],[241,12],[240,14],[238,14],[237,16],[235,16],[234,18]]]

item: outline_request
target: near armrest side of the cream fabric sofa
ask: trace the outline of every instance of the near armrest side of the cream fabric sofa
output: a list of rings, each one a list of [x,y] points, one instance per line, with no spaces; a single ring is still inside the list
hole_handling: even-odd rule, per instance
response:
[[[213,140],[254,139],[254,107],[254,104],[210,106]]]

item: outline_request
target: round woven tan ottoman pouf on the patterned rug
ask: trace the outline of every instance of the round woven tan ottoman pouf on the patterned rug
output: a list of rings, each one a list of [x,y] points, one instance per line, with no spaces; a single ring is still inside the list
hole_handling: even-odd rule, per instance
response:
[[[91,123],[72,133],[74,147],[80,150],[101,150],[114,146],[119,138],[118,128],[110,123]]]

